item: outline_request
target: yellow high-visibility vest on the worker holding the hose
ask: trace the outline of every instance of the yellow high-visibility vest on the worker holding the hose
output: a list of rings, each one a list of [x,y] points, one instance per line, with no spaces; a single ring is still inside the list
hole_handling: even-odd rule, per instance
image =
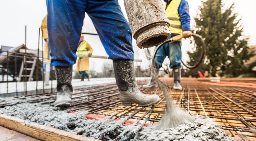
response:
[[[171,33],[182,35],[182,25],[180,22],[180,14],[178,13],[180,2],[181,0],[172,0],[165,11],[169,18],[169,29]]]

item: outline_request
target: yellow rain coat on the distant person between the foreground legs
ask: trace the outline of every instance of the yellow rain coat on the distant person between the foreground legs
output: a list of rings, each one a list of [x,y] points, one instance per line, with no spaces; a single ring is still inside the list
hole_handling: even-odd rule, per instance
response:
[[[87,41],[83,41],[78,46],[78,49],[76,51],[76,54],[79,55],[88,55],[89,52],[92,54],[93,49],[91,48],[91,45]],[[89,71],[89,57],[81,57],[78,58],[77,64],[76,64],[76,71]]]

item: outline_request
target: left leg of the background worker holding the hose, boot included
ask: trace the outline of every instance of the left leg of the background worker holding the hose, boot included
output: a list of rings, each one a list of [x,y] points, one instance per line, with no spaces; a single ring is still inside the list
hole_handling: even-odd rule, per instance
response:
[[[144,88],[152,88],[156,85],[159,69],[162,67],[163,61],[169,53],[168,44],[163,44],[160,47],[156,48],[156,53],[152,59],[153,68],[151,70],[151,80],[147,85],[143,85]]]

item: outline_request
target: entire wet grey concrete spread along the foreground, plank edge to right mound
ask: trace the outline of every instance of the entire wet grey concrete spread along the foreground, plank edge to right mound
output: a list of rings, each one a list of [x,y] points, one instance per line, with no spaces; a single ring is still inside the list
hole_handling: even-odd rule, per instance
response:
[[[0,114],[19,117],[42,125],[51,126],[68,132],[80,132],[82,136],[101,139],[102,133],[108,135],[104,140],[120,139],[134,136],[134,141],[234,141],[228,137],[210,118],[202,116],[192,116],[190,123],[179,125],[178,127],[165,130],[152,130],[152,127],[145,127],[139,132],[145,121],[139,124],[124,126],[122,123],[126,119],[113,121],[105,119],[86,119],[87,111],[68,113],[59,108],[48,105],[22,103],[14,106],[0,108]],[[122,136],[124,135],[124,136]]]

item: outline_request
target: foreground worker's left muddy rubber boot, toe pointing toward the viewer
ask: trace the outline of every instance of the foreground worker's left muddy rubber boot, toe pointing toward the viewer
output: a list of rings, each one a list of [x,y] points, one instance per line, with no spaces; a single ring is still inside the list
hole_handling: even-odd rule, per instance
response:
[[[71,67],[55,67],[57,76],[57,98],[54,107],[67,107],[71,105],[71,96],[73,88],[72,66]]]

